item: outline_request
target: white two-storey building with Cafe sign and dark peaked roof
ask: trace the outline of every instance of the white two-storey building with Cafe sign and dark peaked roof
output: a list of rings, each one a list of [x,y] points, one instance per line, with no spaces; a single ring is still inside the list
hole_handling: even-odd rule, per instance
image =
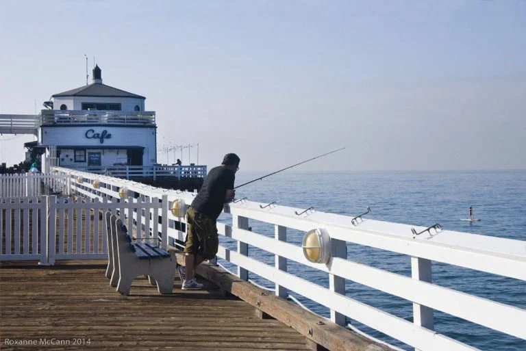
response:
[[[56,148],[51,156],[67,168],[155,164],[155,112],[145,111],[145,96],[105,85],[99,66],[92,80],[44,103],[38,146],[47,155]]]

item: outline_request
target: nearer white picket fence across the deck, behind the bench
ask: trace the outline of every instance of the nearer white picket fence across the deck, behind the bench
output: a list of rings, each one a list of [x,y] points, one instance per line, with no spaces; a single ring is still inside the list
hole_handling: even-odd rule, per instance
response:
[[[62,177],[64,178],[64,177]],[[138,240],[160,239],[168,247],[166,226],[136,213],[151,212],[153,218],[166,217],[166,196],[162,200],[114,198],[79,200],[41,196],[40,198],[0,197],[0,261],[38,260],[53,265],[57,259],[106,259],[108,244],[103,229],[105,211],[118,214]],[[154,233],[158,233],[155,236]],[[40,242],[40,247],[38,247]],[[5,247],[3,247],[5,243]]]

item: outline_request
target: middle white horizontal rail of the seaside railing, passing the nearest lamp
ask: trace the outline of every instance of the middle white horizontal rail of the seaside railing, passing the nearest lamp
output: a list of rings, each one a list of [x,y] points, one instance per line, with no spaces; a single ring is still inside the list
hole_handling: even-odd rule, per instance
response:
[[[406,300],[488,326],[488,328],[500,330],[503,333],[515,336],[521,335],[518,337],[526,339],[526,330],[522,328],[521,323],[517,323],[517,321],[526,320],[526,311],[523,309],[510,307],[506,304],[478,298],[460,291],[418,281],[345,259],[333,258],[330,262],[330,267],[329,265],[310,263],[303,257],[303,252],[299,246],[278,242],[264,235],[241,229],[231,229],[231,237],[232,239],[242,240],[251,246],[273,251],[278,255],[303,265],[308,265],[311,268],[330,272],[336,276],[379,289],[388,294],[400,296]],[[245,268],[252,271],[251,267]],[[341,312],[341,310],[339,311]],[[494,316],[499,316],[499,318]]]

